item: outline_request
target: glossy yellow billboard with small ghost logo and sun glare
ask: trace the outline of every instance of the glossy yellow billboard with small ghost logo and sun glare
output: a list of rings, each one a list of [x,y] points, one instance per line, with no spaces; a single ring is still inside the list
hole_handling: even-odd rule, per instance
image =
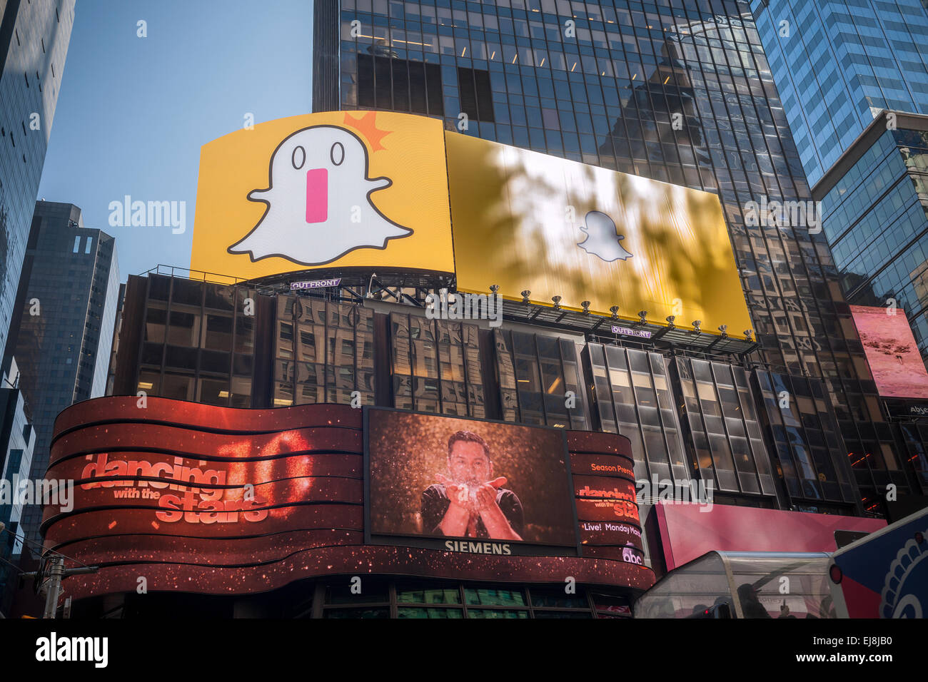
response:
[[[715,194],[445,132],[458,290],[752,328]]]

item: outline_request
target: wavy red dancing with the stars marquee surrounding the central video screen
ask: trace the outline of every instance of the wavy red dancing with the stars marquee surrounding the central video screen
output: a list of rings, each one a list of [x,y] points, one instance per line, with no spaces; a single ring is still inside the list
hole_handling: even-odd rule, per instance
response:
[[[646,589],[627,439],[568,431],[580,557],[458,554],[364,544],[362,412],[348,405],[237,409],[149,397],[72,405],[46,477],[73,481],[45,508],[45,547],[100,567],[74,598],[135,590],[260,592],[340,573]],[[631,554],[629,554],[631,552]]]

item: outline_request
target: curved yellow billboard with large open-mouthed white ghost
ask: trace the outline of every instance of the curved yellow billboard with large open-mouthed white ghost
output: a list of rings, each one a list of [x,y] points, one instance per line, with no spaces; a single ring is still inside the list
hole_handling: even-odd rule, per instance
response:
[[[190,269],[451,273],[447,191],[439,120],[333,111],[260,123],[200,149]]]

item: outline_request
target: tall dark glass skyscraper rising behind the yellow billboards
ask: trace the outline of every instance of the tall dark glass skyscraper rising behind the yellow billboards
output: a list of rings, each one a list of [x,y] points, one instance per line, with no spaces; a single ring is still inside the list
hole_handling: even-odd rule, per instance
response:
[[[793,507],[876,510],[888,483],[928,489],[920,435],[883,414],[825,236],[746,215],[752,201],[812,199],[748,4],[344,0],[335,20],[337,10],[316,2],[316,110],[441,117],[467,135],[719,195],[759,343],[749,378]],[[690,370],[707,396],[698,379],[712,381],[712,368],[677,367],[683,384]],[[745,379],[723,374],[715,387],[735,392],[737,409]],[[683,424],[688,451],[731,457],[709,437],[718,404],[702,406]]]

